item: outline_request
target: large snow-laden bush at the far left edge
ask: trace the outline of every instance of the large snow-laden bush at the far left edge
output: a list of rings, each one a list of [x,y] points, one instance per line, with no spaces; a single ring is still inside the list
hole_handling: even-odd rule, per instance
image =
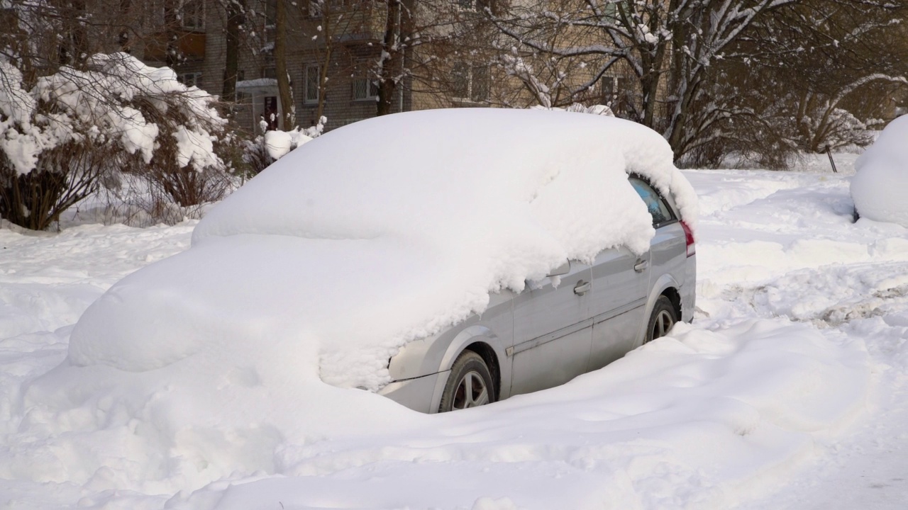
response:
[[[0,57],[0,215],[44,229],[121,172],[183,206],[220,198],[214,101],[129,54],[95,54],[86,70],[63,66],[31,88]]]

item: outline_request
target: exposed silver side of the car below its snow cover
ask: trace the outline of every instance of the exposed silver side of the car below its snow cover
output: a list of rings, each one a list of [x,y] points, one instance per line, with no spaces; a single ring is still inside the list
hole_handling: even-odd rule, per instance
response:
[[[671,196],[629,180],[653,217],[648,252],[603,250],[592,265],[569,260],[519,294],[493,295],[481,316],[401,348],[380,394],[425,413],[481,406],[603,368],[693,319],[693,234]]]

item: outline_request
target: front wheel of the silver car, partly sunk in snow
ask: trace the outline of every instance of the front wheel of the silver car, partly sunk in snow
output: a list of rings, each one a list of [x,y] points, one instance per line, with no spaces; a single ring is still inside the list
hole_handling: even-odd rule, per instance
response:
[[[492,374],[485,359],[465,350],[454,360],[448,383],[441,394],[439,413],[478,407],[495,401]]]

